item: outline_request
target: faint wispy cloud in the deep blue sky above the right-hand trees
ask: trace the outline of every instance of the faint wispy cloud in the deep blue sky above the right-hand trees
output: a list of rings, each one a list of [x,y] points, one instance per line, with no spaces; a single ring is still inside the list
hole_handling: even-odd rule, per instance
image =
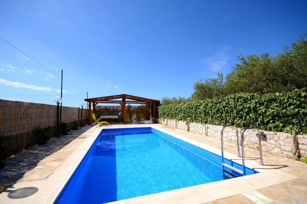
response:
[[[228,61],[228,50],[230,47],[221,47],[219,51],[213,57],[207,57],[202,61],[202,64],[208,66],[210,70],[218,71],[223,68],[223,66]]]

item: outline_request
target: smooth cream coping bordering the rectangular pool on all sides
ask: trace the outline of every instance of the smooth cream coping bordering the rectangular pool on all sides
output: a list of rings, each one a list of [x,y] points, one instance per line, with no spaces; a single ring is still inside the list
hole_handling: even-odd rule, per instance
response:
[[[185,142],[188,142],[194,146],[198,146],[201,149],[207,150],[209,152],[212,152],[214,154],[220,155],[220,149],[209,146],[207,144],[198,142],[196,140],[192,140],[189,138],[186,138],[185,136],[181,136],[177,133],[170,132],[165,129],[161,129],[159,126],[154,125],[148,125],[144,124],[142,127],[151,127],[153,129],[159,130],[165,134],[169,134],[175,138],[181,139]],[[140,126],[138,126],[140,127]],[[2,194],[0,194],[0,199],[6,197],[6,199],[2,201],[8,201],[7,203],[33,203],[33,202],[43,202],[43,203],[53,203],[57,196],[60,194],[61,190],[64,188],[66,183],[68,182],[69,178],[72,176],[76,168],[79,166],[80,162],[84,158],[87,151],[90,149],[91,145],[95,141],[95,139],[98,137],[99,133],[103,129],[109,129],[110,127],[94,127],[96,130],[94,130],[90,134],[84,134],[80,136],[87,136],[87,139],[45,180],[40,181],[31,181],[31,182],[20,182],[13,185],[13,190],[19,189],[22,187],[28,187],[33,186],[37,187],[39,191],[36,194],[33,194],[32,196],[21,198],[21,199],[10,199],[7,197],[9,191],[4,191]],[[121,128],[135,128],[135,127],[117,127],[116,129]],[[89,129],[91,130],[91,129]],[[231,154],[229,152],[224,151],[225,158],[233,159],[238,162],[238,158],[236,155]],[[239,159],[241,160],[241,159]],[[242,161],[242,160],[241,160]],[[265,159],[264,159],[265,163]],[[242,163],[241,163],[242,164]],[[246,160],[246,166],[248,168],[256,168],[259,167],[258,163],[253,161]],[[260,166],[262,167],[262,166]],[[244,177],[238,177],[238,178],[232,178],[217,182],[211,182],[206,184],[201,184],[197,186],[190,186],[186,188],[181,189],[175,189],[170,191],[164,191],[161,193],[155,193],[155,194],[149,194],[145,196],[135,197],[135,198],[129,198],[125,200],[119,200],[111,203],[170,203],[170,202],[176,202],[176,203],[202,203],[202,202],[208,202],[212,200],[217,200],[220,198],[229,197],[236,194],[241,194],[244,192],[248,192],[251,190],[257,190],[260,188],[264,188],[267,186],[275,185],[278,183],[286,182],[295,178],[298,178],[297,176],[294,176],[292,174],[288,174],[286,172],[272,169],[268,166],[266,166],[266,169],[260,169],[256,168],[256,171],[258,171],[258,174],[252,174]],[[260,178],[260,179],[259,179]],[[269,178],[269,179],[268,179]],[[273,179],[275,178],[275,179]],[[263,179],[269,180],[270,182],[261,182]],[[220,182],[223,182],[221,185]],[[242,185],[248,184],[248,185]],[[241,184],[241,185],[239,185]],[[51,190],[50,186],[52,186]],[[233,188],[235,186],[235,188]],[[224,189],[222,191],[222,189]],[[8,189],[11,190],[11,189]],[[221,193],[222,191],[222,193]],[[231,191],[231,192],[230,192]]]

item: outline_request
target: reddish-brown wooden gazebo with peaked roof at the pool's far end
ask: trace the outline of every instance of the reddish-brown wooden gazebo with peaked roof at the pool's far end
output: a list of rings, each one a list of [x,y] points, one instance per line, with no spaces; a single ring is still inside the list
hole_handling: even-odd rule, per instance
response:
[[[116,100],[121,99],[121,100]],[[114,95],[114,96],[103,96],[103,97],[97,97],[97,98],[87,98],[84,99],[88,102],[88,124],[91,124],[91,104],[93,103],[93,112],[95,112],[95,106],[98,103],[119,103],[122,106],[122,113],[123,113],[123,122],[126,123],[126,104],[127,103],[138,103],[138,104],[145,104],[147,106],[148,110],[148,117],[150,115],[150,103],[153,103],[153,118],[154,122],[157,122],[156,118],[156,107],[158,100],[153,100],[149,98],[142,98],[139,96],[132,96],[128,94],[120,94],[120,95]],[[149,120],[149,118],[147,118]]]

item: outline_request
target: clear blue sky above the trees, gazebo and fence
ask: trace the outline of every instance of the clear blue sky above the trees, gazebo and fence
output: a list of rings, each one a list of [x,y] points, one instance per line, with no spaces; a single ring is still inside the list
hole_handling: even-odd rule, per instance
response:
[[[63,105],[189,97],[242,53],[276,55],[307,32],[307,1],[0,1],[0,37],[63,81]],[[0,39],[0,98],[53,104],[60,77]],[[40,95],[11,95],[40,94]],[[48,94],[48,95],[42,95]]]

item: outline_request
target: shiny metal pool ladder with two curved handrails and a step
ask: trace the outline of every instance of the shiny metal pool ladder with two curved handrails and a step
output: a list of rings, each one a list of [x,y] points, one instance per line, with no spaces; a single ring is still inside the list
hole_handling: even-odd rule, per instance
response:
[[[241,157],[240,156],[240,144],[239,144],[239,134],[238,134],[238,128],[234,125],[227,125],[227,126],[223,126],[222,130],[221,130],[221,147],[222,147],[222,166],[223,166],[223,171],[227,172],[228,174],[235,176],[234,174],[232,174],[231,172],[227,171],[224,169],[224,167],[226,166],[227,168],[234,170],[240,174],[242,174],[243,176],[246,174],[246,170],[245,170],[245,154],[244,154],[244,132],[246,130],[257,130],[258,131],[258,138],[259,138],[259,152],[260,152],[260,163],[259,165],[264,166],[263,161],[262,161],[262,147],[261,147],[261,133],[260,131],[255,128],[255,127],[248,127],[243,129],[243,131],[241,132],[241,147],[242,147],[242,170],[239,170],[231,165],[228,165],[224,162],[224,148],[223,148],[223,130],[226,128],[235,128],[235,132],[237,135],[237,148],[238,148],[238,155],[237,157]]]

